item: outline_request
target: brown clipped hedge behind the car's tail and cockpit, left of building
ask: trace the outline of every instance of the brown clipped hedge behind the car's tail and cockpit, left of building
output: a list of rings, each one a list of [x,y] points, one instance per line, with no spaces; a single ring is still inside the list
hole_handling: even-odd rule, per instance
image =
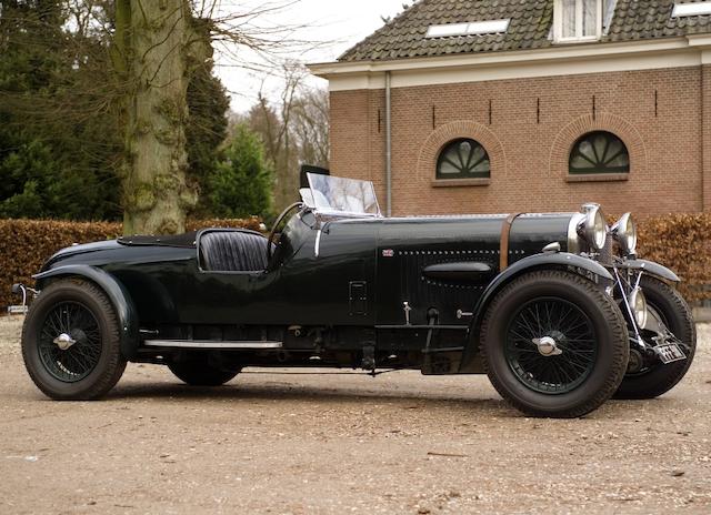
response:
[[[246,220],[192,220],[188,231],[202,228],[247,228],[259,230],[258,218]],[[19,303],[12,295],[13,283],[32,284],[32,274],[54,252],[72,243],[112,240],[121,234],[121,224],[112,222],[58,222],[51,220],[0,220],[0,314]]]

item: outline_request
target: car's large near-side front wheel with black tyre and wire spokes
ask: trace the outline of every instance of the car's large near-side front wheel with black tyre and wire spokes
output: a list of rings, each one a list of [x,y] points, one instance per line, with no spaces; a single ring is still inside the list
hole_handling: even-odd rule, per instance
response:
[[[531,416],[592,412],[618,390],[628,366],[629,335],[619,307],[600,286],[570,272],[514,279],[488,307],[480,334],[492,385]],[[544,336],[554,345],[533,342]]]

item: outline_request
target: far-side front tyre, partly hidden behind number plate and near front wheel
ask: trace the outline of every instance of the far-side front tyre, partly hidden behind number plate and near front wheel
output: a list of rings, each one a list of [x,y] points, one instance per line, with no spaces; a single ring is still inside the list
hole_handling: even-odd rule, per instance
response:
[[[647,371],[625,375],[615,398],[653,398],[669,392],[687,374],[697,351],[697,327],[691,309],[681,294],[654,277],[642,276],[640,285],[648,304],[660,314],[674,336],[689,346],[689,352],[683,361],[668,365],[659,363]]]

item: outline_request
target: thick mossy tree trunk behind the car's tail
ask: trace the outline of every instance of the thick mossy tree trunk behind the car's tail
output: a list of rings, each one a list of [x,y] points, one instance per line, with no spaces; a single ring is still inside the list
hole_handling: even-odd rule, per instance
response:
[[[117,0],[113,63],[122,90],[123,233],[184,231],[197,192],[186,183],[188,0]]]

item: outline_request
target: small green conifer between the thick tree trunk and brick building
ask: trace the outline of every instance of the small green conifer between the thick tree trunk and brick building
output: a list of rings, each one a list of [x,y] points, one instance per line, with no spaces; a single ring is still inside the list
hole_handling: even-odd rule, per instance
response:
[[[247,124],[239,124],[223,155],[208,179],[211,212],[224,218],[268,218],[273,171],[259,137]]]

